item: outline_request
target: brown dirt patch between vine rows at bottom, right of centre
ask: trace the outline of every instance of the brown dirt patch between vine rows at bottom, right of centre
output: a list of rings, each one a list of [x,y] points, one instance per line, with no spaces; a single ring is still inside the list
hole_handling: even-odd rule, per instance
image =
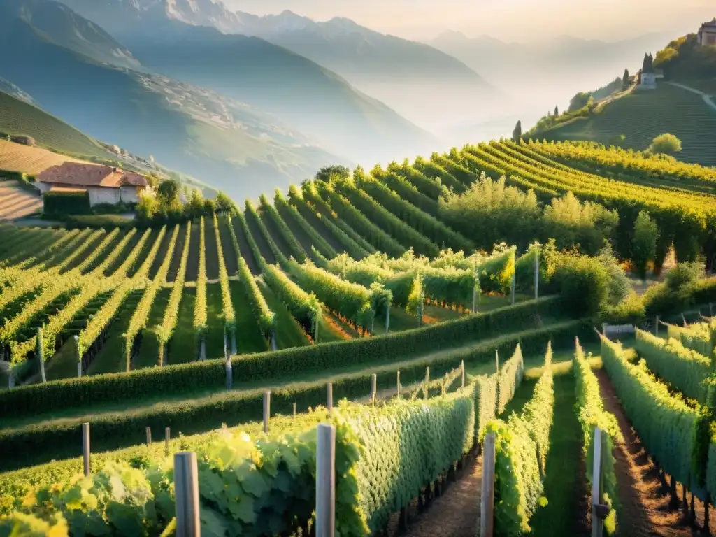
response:
[[[483,459],[471,457],[458,480],[433,500],[430,509],[412,519],[408,537],[475,537],[480,516]]]

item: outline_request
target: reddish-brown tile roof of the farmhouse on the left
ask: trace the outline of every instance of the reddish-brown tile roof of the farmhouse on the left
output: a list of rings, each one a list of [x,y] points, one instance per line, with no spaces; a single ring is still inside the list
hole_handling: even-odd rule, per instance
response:
[[[62,163],[47,168],[37,180],[41,183],[59,183],[72,186],[102,186],[120,188],[124,185],[147,186],[147,179],[137,173],[120,168],[84,163]]]

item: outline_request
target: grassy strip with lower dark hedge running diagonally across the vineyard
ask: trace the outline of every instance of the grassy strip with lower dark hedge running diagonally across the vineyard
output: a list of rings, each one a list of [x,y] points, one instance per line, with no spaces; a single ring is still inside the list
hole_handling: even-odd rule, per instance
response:
[[[97,451],[112,450],[142,442],[144,427],[170,426],[173,430],[185,434],[205,432],[212,428],[227,425],[239,425],[242,422],[258,420],[261,412],[263,392],[274,392],[271,401],[272,412],[290,412],[296,402],[299,410],[320,404],[325,397],[326,382],[334,384],[334,399],[342,397],[364,397],[369,391],[370,374],[378,375],[381,390],[395,386],[395,372],[400,370],[401,382],[408,385],[418,382],[425,375],[425,367],[430,366],[431,374],[440,376],[465,361],[468,372],[488,372],[494,367],[495,348],[500,354],[511,354],[515,344],[521,342],[524,352],[531,354],[546,345],[553,337],[557,347],[569,347],[574,342],[574,334],[579,332],[581,324],[575,321],[548,323],[543,329],[526,332],[512,332],[493,339],[483,339],[473,344],[453,349],[426,353],[410,359],[396,359],[386,364],[357,364],[352,367],[324,367],[320,371],[294,373],[289,377],[275,377],[270,381],[251,379],[241,380],[237,374],[235,389],[230,392],[216,390],[197,390],[181,395],[153,395],[142,400],[133,400],[130,410],[126,402],[92,404],[91,410],[84,408],[64,408],[44,415],[16,417],[4,420],[0,440],[6,447],[6,453],[12,456],[6,460],[4,468],[16,468],[15,465],[41,463],[52,458],[67,458],[77,455],[81,445],[71,442],[77,435],[79,425],[89,421],[97,440],[93,437],[93,446]],[[222,367],[221,363],[216,367]],[[49,435],[49,436],[48,436]],[[45,450],[29,449],[27,442],[41,442],[41,439],[54,438],[57,450],[49,455]],[[62,440],[61,440],[62,439]],[[21,442],[17,443],[17,442]],[[77,445],[75,445],[77,443]],[[21,449],[20,446],[25,448]],[[0,467],[3,468],[3,467]]]

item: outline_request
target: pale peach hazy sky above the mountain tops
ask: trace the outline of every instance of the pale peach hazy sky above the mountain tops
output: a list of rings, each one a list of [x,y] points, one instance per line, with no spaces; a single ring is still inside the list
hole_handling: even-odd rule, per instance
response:
[[[517,42],[562,34],[617,40],[649,32],[695,32],[716,16],[714,0],[223,0],[232,9],[313,19],[345,16],[380,32],[429,38],[445,29]]]

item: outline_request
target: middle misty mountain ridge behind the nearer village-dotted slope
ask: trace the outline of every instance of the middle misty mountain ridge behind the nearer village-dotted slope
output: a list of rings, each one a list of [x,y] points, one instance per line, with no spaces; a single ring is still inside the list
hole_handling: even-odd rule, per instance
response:
[[[440,132],[464,120],[465,115],[490,117],[494,107],[503,104],[498,89],[449,54],[427,44],[374,32],[349,19],[316,22],[291,11],[268,16],[233,13],[213,0],[62,1],[132,50],[137,39],[166,39],[175,34],[177,25],[168,21],[259,37],[330,69],[431,132]],[[208,37],[203,34],[203,39]],[[218,35],[213,39],[213,47],[218,47],[221,39]],[[223,47],[218,54],[241,54],[236,42],[226,41]],[[256,62],[262,61],[260,53],[251,49]],[[147,57],[142,62],[146,63]]]

